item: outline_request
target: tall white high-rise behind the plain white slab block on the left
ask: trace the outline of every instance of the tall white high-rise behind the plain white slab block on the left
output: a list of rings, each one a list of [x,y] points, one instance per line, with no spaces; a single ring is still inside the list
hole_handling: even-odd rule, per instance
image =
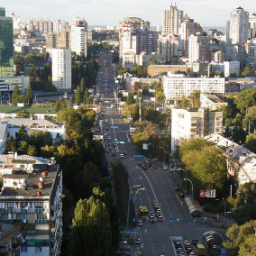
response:
[[[87,22],[77,16],[71,22],[71,50],[80,57],[87,57]]]

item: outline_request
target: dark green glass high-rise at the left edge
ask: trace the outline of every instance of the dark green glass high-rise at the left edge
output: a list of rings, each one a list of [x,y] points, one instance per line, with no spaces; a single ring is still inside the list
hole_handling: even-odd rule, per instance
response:
[[[14,76],[14,28],[13,17],[5,16],[0,7],[0,78]]]

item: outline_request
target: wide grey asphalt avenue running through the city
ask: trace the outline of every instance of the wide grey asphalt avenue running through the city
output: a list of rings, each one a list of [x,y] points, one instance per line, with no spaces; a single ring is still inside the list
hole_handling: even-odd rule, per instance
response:
[[[100,78],[100,81],[104,80],[104,83],[99,82],[99,90],[101,91],[99,98],[102,97],[101,111],[104,112],[104,116],[100,117],[100,120],[102,120],[105,149],[108,148],[108,143],[111,144],[114,140],[116,141],[119,152],[112,160],[121,160],[129,173],[131,199],[135,205],[136,221],[141,218],[139,206],[147,206],[149,211],[155,213],[152,200],[159,202],[164,218],[163,222],[157,221],[156,223],[150,223],[149,219],[142,219],[143,225],[137,226],[135,229],[139,232],[142,244],[126,244],[125,246],[133,250],[134,255],[142,253],[146,256],[176,256],[178,251],[172,240],[182,240],[182,238],[188,242],[191,242],[193,238],[201,240],[203,233],[212,230],[212,228],[194,222],[187,210],[184,199],[180,198],[180,193],[174,190],[175,183],[169,170],[161,169],[160,166],[157,169],[147,170],[138,167],[138,162],[143,162],[143,160],[136,158],[133,143],[128,134],[129,124],[119,113],[116,100],[113,97],[116,88],[112,77],[111,60],[108,55],[105,55],[100,59],[100,63],[103,64],[103,61],[105,65],[101,65],[98,78]],[[111,105],[114,105],[114,107],[111,107]],[[107,137],[111,139],[107,140]],[[120,154],[123,151],[126,151],[127,154],[121,158]],[[109,156],[111,157],[111,155]],[[215,231],[222,232],[218,229],[215,229]]]

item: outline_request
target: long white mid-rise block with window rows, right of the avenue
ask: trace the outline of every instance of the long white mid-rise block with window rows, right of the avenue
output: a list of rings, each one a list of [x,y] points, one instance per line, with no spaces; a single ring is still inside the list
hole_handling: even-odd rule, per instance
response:
[[[168,73],[163,76],[163,92],[166,100],[177,102],[182,96],[190,96],[194,91],[199,90],[201,93],[216,94],[224,93],[224,78],[188,78],[183,74]]]

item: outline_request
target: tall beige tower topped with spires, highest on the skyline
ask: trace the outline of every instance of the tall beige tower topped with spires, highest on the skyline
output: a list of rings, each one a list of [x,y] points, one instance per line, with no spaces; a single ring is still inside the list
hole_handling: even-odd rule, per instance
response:
[[[169,10],[162,13],[162,35],[178,34],[178,28],[183,23],[183,11],[177,6],[170,5]]]

